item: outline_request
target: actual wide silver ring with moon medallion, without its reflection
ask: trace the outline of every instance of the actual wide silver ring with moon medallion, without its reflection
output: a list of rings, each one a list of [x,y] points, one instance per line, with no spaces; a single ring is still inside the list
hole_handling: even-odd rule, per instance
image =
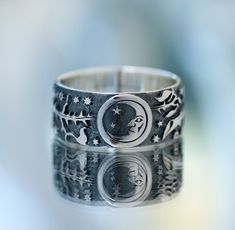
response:
[[[181,133],[184,90],[174,74],[105,67],[62,75],[55,83],[58,138],[89,146],[135,147]]]

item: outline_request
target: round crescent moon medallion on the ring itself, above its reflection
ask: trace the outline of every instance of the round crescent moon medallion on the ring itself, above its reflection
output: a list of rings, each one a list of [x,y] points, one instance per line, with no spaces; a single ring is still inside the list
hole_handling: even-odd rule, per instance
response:
[[[152,128],[152,111],[146,101],[134,95],[116,95],[100,108],[97,126],[102,138],[114,147],[141,144]]]

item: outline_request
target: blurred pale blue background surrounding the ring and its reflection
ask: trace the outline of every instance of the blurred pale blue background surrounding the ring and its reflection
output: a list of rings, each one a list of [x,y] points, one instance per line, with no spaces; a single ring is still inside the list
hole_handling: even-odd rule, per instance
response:
[[[234,230],[234,13],[232,0],[1,0],[0,229]],[[91,208],[53,188],[53,82],[111,64],[185,82],[184,185],[172,201]]]

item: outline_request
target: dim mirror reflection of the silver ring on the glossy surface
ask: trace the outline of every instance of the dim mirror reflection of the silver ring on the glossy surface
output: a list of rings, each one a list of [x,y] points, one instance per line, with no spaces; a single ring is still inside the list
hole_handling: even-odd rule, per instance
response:
[[[133,150],[134,151],[134,150]],[[54,141],[54,183],[66,199],[115,207],[168,200],[182,184],[182,141],[140,152],[85,151]]]

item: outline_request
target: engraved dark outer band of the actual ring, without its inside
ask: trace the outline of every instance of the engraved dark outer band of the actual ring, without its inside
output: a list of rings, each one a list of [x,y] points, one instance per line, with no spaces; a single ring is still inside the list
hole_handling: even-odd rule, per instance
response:
[[[94,76],[96,80],[100,77],[103,82],[104,76],[95,73]],[[128,76],[122,80],[128,79]],[[139,84],[140,79],[148,79],[144,73],[141,76],[136,76]],[[132,74],[131,79],[134,77]],[[117,81],[119,78],[110,79]],[[178,137],[184,119],[184,89],[181,84],[169,85],[170,79],[167,77],[152,77],[152,84],[154,79],[160,82],[160,86],[167,85],[167,88],[161,89],[158,85],[155,91],[145,92],[144,89],[136,93],[122,93],[127,86],[121,84],[120,92],[101,93],[95,92],[95,86],[92,88],[94,92],[81,90],[83,87],[90,89],[86,86],[89,81],[83,82],[79,76],[71,76],[71,79],[67,76],[69,86],[61,80],[54,87],[53,126],[56,135],[64,141],[84,146],[113,147],[145,146]],[[73,88],[77,87],[77,81],[81,89]],[[90,82],[90,85],[93,83]],[[138,84],[129,82],[129,85],[136,88]]]

